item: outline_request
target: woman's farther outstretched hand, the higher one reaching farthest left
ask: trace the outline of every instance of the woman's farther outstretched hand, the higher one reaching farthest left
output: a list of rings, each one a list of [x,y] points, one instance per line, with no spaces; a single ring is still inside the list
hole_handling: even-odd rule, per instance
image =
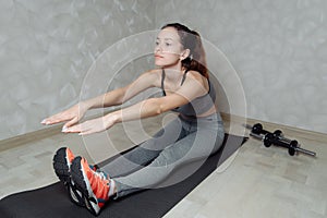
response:
[[[41,124],[52,125],[60,122],[66,122],[62,128],[62,130],[64,131],[65,129],[76,124],[84,117],[87,110],[88,107],[85,104],[80,102],[68,110],[44,119],[41,121]]]

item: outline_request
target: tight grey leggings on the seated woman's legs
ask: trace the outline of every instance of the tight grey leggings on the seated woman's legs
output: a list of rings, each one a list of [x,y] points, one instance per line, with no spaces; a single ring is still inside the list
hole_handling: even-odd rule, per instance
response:
[[[117,197],[121,197],[155,187],[182,164],[205,160],[219,149],[223,135],[219,113],[197,119],[179,116],[150,140],[104,166],[101,170],[114,180]]]

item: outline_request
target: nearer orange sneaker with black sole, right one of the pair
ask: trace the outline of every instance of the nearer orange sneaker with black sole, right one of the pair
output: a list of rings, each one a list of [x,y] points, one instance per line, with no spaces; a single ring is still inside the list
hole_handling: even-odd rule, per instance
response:
[[[82,157],[73,160],[72,178],[84,195],[86,208],[98,215],[109,199],[110,178],[104,172],[90,169],[87,160]]]

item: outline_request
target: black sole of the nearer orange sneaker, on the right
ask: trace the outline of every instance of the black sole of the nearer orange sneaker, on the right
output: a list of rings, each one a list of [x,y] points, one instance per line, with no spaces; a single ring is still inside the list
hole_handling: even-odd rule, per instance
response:
[[[81,165],[82,157],[76,157],[73,160],[71,166],[72,178],[75,182],[76,189],[83,193],[85,207],[95,216],[97,216],[100,211],[100,207],[98,206],[97,197],[94,195],[90,184],[88,183],[88,179],[84,173]]]

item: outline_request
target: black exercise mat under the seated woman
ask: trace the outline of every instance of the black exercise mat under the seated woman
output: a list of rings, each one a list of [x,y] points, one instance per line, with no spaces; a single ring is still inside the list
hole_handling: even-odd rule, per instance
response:
[[[117,201],[110,201],[98,217],[162,217],[246,141],[247,137],[226,134],[223,146],[185,180],[170,186],[145,190]],[[173,174],[182,173],[191,165],[193,164],[179,168]],[[12,194],[2,198],[0,201],[0,217],[80,218],[94,216],[85,208],[73,204],[68,197],[64,186],[57,182],[45,187]]]

